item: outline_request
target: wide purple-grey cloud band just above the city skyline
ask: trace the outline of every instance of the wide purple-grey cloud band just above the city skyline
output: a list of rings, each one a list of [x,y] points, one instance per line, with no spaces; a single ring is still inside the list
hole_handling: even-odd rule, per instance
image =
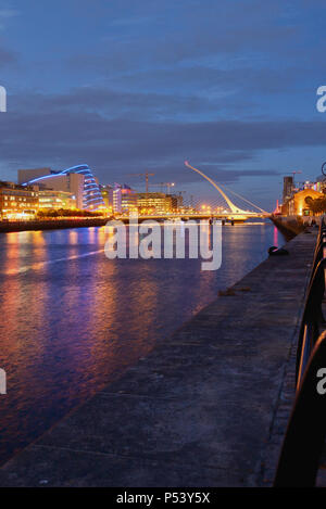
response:
[[[241,177],[271,175],[269,169],[248,168],[248,164],[264,151],[325,143],[322,120],[185,123],[148,120],[146,115],[137,120],[118,116],[109,118],[96,107],[87,107],[89,90],[85,96],[84,92],[77,90],[71,96],[39,99],[35,94],[27,96],[24,104],[20,107],[16,104],[15,111],[0,116],[2,161],[15,162],[16,167],[48,164],[66,167],[86,162],[104,181],[150,167],[162,181],[180,175],[190,182],[196,181],[195,176],[183,166],[184,160],[190,158],[209,168],[220,181],[230,182]],[[95,93],[95,98],[98,105],[105,102],[105,96],[97,98]],[[146,98],[138,100],[141,110],[145,105],[141,101]],[[13,102],[14,98],[11,99]],[[243,170],[235,169],[241,165]]]

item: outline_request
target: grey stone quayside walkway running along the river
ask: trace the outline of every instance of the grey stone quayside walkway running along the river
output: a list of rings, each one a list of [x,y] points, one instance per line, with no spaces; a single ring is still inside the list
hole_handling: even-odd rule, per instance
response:
[[[11,459],[0,486],[269,485],[315,239],[296,237]]]

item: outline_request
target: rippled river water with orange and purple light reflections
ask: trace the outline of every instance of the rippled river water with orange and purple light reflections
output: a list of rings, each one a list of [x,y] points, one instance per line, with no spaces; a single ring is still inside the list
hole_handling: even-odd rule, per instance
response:
[[[271,222],[223,227],[222,267],[115,259],[104,228],[0,236],[0,462],[164,341],[285,243]]]

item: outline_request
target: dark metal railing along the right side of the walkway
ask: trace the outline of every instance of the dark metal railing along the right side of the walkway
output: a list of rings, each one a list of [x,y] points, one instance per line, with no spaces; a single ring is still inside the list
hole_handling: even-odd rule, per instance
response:
[[[326,225],[321,221],[297,352],[297,394],[274,481],[280,486],[314,486],[326,438],[326,394],[319,369],[326,368],[326,326],[322,303],[326,281]],[[318,374],[317,374],[318,373]],[[325,379],[326,389],[326,379]]]

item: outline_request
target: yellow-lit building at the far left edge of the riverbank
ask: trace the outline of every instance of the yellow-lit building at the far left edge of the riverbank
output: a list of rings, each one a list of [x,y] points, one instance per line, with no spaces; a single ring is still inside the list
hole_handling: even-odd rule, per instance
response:
[[[4,219],[33,217],[38,211],[38,187],[1,181],[0,211]]]

